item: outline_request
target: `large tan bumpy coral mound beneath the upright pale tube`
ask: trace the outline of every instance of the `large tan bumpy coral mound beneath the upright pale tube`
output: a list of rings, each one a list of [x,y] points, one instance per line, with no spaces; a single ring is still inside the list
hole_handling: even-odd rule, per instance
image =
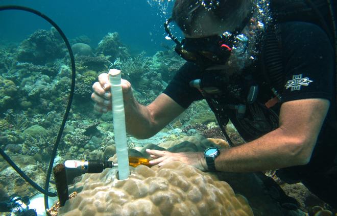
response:
[[[215,176],[176,161],[140,165],[126,180],[116,169],[85,174],[58,215],[253,215],[246,198]]]

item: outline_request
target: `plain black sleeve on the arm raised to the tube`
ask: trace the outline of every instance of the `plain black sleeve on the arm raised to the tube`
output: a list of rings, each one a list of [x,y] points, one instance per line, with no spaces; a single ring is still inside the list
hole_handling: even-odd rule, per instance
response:
[[[177,71],[163,93],[187,109],[193,101],[203,99],[196,88],[189,86],[189,82],[197,78],[200,78],[199,68],[194,64],[186,63]]]

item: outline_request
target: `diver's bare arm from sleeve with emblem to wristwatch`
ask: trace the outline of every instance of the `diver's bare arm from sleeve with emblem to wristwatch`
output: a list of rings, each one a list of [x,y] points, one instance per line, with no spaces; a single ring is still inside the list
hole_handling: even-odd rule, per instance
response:
[[[215,159],[216,170],[254,172],[307,164],[329,104],[319,98],[283,103],[279,128],[252,142],[223,150]]]

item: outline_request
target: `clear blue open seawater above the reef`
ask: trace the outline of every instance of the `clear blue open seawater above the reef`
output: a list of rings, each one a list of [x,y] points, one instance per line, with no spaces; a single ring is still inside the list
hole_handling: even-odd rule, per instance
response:
[[[131,53],[148,55],[163,49],[163,23],[171,15],[172,2],[155,0],[2,0],[0,6],[19,5],[40,11],[55,21],[67,38],[86,35],[97,47],[109,32],[118,32]],[[37,29],[50,29],[42,18],[24,11],[0,12],[0,41],[20,42]]]

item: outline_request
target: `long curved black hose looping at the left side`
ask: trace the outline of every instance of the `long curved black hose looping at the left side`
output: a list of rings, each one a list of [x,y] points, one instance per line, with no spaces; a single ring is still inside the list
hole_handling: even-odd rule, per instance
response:
[[[49,163],[49,168],[48,168],[46,179],[45,179],[44,190],[39,185],[37,185],[32,179],[30,179],[25,173],[23,173],[22,170],[20,170],[15,165],[15,163],[6,155],[6,153],[0,148],[0,154],[13,167],[13,169],[23,179],[25,179],[28,183],[30,183],[36,190],[38,190],[39,192],[41,192],[42,194],[44,194],[44,207],[47,209],[48,206],[49,206],[48,205],[48,199],[47,199],[48,196],[50,196],[50,197],[56,197],[57,196],[57,194],[51,193],[48,190],[49,190],[49,183],[50,183],[50,177],[51,177],[51,174],[52,174],[54,159],[55,159],[55,156],[56,156],[56,153],[57,153],[57,148],[59,146],[59,143],[60,143],[60,140],[61,140],[61,137],[62,137],[62,132],[63,132],[65,123],[66,123],[68,115],[69,115],[69,111],[70,111],[70,107],[71,107],[71,102],[73,102],[73,96],[74,96],[74,91],[75,91],[75,78],[76,78],[75,58],[74,58],[73,50],[71,50],[71,46],[69,44],[68,39],[66,38],[66,36],[62,32],[62,30],[59,28],[59,26],[53,20],[51,20],[49,17],[47,17],[46,15],[44,15],[41,12],[36,11],[34,9],[27,8],[27,7],[22,7],[22,6],[16,6],[16,5],[1,6],[0,7],[0,11],[4,11],[4,10],[27,11],[27,12],[36,14],[39,17],[45,19],[47,22],[49,22],[50,24],[52,24],[54,26],[54,28],[60,33],[60,35],[61,35],[62,39],[64,40],[65,45],[66,45],[66,47],[68,49],[68,52],[69,52],[69,57],[70,57],[70,62],[71,62],[71,86],[70,86],[70,93],[69,93],[69,98],[68,98],[68,104],[66,106],[66,111],[65,111],[64,116],[63,116],[63,121],[61,123],[59,132],[57,134],[57,139],[56,139],[56,142],[54,144],[53,151],[52,151],[51,160],[50,160],[50,163]]]

